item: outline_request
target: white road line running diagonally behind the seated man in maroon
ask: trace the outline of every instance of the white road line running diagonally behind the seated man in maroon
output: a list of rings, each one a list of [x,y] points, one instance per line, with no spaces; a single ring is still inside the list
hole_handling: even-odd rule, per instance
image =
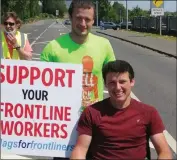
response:
[[[103,91],[104,93],[108,93],[108,91]],[[136,99],[137,101],[140,101],[134,94],[133,92],[131,92],[131,97]],[[176,140],[170,135],[170,133],[168,133],[167,130],[164,131],[164,135],[167,139],[168,145],[171,147],[171,149],[176,153]],[[149,142],[150,147],[154,148],[152,142]]]

